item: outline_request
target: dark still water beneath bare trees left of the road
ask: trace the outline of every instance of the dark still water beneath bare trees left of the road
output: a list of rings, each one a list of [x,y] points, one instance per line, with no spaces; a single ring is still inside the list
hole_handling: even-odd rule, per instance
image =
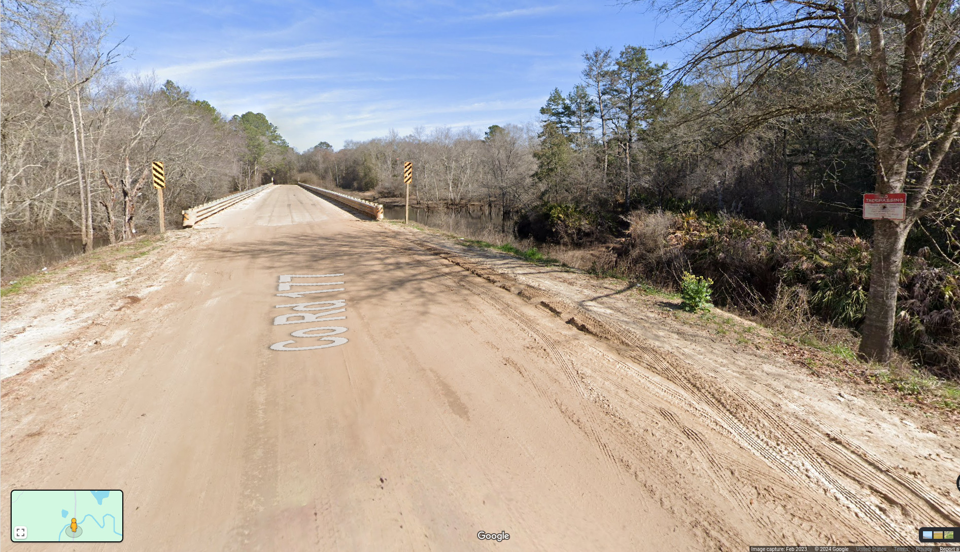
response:
[[[106,238],[94,238],[93,247],[107,245]],[[84,252],[80,238],[63,236],[32,236],[20,238],[4,236],[3,260],[0,263],[3,280],[19,278],[45,266],[53,266]]]

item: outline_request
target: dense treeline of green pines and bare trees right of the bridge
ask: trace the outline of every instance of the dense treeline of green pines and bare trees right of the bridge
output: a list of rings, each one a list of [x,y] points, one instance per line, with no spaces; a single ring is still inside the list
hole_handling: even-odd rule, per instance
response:
[[[391,132],[339,151],[324,142],[301,154],[300,172],[402,196],[402,164],[413,161],[417,202],[496,203],[521,214],[521,233],[542,242],[606,240],[627,228],[622,216],[636,208],[871,233],[860,213],[876,180],[868,122],[837,113],[757,121],[756,111],[788,100],[788,86],[807,93],[810,75],[717,108],[731,94],[718,89],[722,76],[705,71],[664,90],[667,67],[643,48],[627,46],[618,56],[597,49],[584,58],[584,82],[566,94],[554,89],[539,127]],[[952,189],[958,171],[951,148],[939,168],[936,205],[911,236],[913,251],[929,246],[948,263],[960,262],[947,216],[960,208]]]

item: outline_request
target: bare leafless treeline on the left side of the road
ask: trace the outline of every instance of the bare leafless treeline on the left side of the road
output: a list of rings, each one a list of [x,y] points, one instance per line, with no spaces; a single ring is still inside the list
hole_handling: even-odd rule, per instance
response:
[[[158,225],[146,169],[163,161],[169,223],[180,209],[286,179],[296,154],[260,113],[225,118],[176,83],[114,71],[123,43],[75,4],[3,2],[0,210],[5,270],[41,233],[130,239]]]

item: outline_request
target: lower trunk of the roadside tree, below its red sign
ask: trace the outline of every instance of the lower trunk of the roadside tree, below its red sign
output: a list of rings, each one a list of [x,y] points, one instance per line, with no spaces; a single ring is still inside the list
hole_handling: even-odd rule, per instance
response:
[[[870,295],[861,330],[860,354],[876,362],[887,363],[893,356],[903,243],[910,226],[909,222],[899,220],[874,221]]]

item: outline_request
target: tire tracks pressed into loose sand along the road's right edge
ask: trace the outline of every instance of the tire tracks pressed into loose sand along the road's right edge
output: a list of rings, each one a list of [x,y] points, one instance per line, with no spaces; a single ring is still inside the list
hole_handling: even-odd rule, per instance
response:
[[[509,282],[516,282],[516,279],[510,275],[467,261],[433,244],[419,240],[416,243],[422,249],[460,265],[494,285],[513,291]],[[660,351],[635,334],[633,329],[621,325],[609,316],[572,307],[563,300],[557,301],[553,293],[529,284],[518,287],[527,288],[526,293],[518,293],[525,298],[529,299],[531,293],[538,298],[545,298],[544,307],[564,318],[569,317],[567,323],[579,330],[626,345],[626,357],[677,385],[688,395],[676,397],[676,393],[667,393],[674,395],[675,400],[680,400],[678,404],[684,406],[684,409],[690,409],[689,403],[697,403],[693,410],[705,417],[710,426],[722,427],[742,447],[751,450],[778,471],[825,489],[838,502],[852,510],[856,517],[868,519],[891,540],[908,544],[909,541],[905,540],[903,535],[912,531],[912,525],[907,527],[906,519],[888,516],[886,512],[893,511],[879,508],[868,500],[862,491],[856,490],[855,486],[867,490],[867,496],[870,495],[869,492],[873,492],[883,501],[899,506],[899,510],[908,511],[904,517],[940,518],[946,525],[956,522],[956,509],[939,496],[928,492],[919,483],[890,471],[889,466],[865,450],[836,437],[837,433],[824,434],[803,421],[792,419],[793,417],[786,422],[784,413],[761,404],[757,401],[758,398],[753,398],[745,390],[738,388],[735,382],[704,377],[703,374],[713,372],[710,367],[701,365],[694,358],[677,357],[673,353]],[[560,308],[551,309],[553,302],[560,303]],[[511,313],[505,311],[510,310],[509,305],[499,303],[500,305],[495,306],[510,316]],[[570,315],[570,311],[574,311],[573,315]],[[588,397],[572,367],[567,368],[564,361],[558,364],[564,367],[564,373],[577,391],[583,397]],[[689,435],[687,437],[692,440]],[[845,483],[844,479],[849,482]],[[851,487],[851,484],[854,487]]]

